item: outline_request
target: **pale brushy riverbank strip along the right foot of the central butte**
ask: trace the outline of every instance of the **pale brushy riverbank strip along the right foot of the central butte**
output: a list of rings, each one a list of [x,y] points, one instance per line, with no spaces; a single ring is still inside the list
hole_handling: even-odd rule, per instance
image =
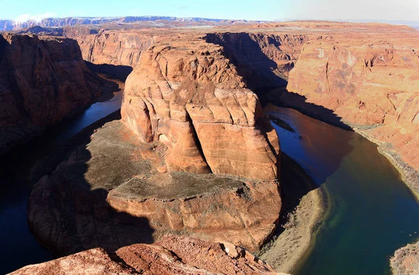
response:
[[[308,188],[308,192],[302,195],[297,206],[293,209],[285,209],[281,214],[281,224],[276,236],[260,250],[258,257],[270,264],[277,272],[293,273],[301,260],[309,253],[311,244],[316,238],[316,230],[323,223],[328,213],[328,195],[323,188],[314,186],[313,181],[292,158],[281,154],[283,168],[288,170],[288,179],[281,180],[281,189],[293,192],[297,188]],[[284,171],[285,169],[281,169]],[[291,177],[290,177],[291,176]],[[295,182],[298,184],[295,184]],[[304,186],[301,186],[303,184]],[[283,188],[291,187],[291,190]],[[284,193],[284,196],[289,195]],[[284,202],[285,203],[285,202]],[[288,211],[287,211],[288,210]]]

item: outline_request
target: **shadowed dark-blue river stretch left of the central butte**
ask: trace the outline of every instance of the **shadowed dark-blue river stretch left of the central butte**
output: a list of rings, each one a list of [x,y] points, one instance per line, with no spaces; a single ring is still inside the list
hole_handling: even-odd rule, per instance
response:
[[[51,154],[55,144],[115,112],[121,103],[122,91],[115,92],[109,101],[94,103],[84,112],[49,128],[41,137],[14,149],[3,158],[0,168],[0,274],[53,259],[52,254],[38,244],[27,223],[31,188],[27,177],[31,166]]]

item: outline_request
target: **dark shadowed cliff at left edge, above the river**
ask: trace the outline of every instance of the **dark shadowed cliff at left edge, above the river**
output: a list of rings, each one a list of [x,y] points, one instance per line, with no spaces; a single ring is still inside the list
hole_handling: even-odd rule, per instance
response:
[[[100,94],[75,40],[1,35],[0,154]]]

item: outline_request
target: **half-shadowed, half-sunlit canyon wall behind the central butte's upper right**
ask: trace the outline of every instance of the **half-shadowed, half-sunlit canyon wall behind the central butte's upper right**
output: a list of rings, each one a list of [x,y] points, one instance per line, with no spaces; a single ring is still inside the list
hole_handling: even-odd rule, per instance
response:
[[[223,46],[249,87],[275,87],[286,84],[302,45],[311,38],[295,34],[215,33],[208,43]]]

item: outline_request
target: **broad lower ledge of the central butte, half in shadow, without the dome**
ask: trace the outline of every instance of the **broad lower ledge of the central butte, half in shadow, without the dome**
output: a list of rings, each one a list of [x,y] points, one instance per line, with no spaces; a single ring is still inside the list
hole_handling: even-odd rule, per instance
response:
[[[267,241],[281,209],[276,181],[166,172],[165,150],[120,121],[105,124],[32,189],[29,225],[38,241],[57,255],[116,251],[166,232],[250,250]]]

